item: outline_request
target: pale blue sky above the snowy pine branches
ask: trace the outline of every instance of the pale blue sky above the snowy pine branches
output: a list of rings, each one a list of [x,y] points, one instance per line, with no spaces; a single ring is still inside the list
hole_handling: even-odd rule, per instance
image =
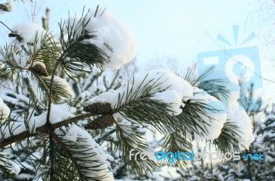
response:
[[[264,38],[274,22],[262,21],[270,13],[270,10],[265,10],[265,7],[269,7],[267,1],[103,0],[77,1],[77,3],[65,0],[50,0],[43,3],[38,1],[36,9],[41,8],[36,14],[35,21],[41,24],[45,7],[50,7],[50,29],[56,32],[57,23],[61,19],[67,19],[68,12],[70,14],[76,12],[80,16],[84,5],[86,8],[96,8],[98,4],[102,8],[107,7],[109,12],[115,14],[133,31],[137,40],[139,64],[146,64],[163,56],[174,58],[176,64],[187,64],[196,60],[197,53],[238,47],[238,44],[228,47],[216,37],[222,34],[228,41],[233,42],[232,25],[239,25],[239,42],[252,32],[257,35],[245,46],[259,47],[263,76],[272,79],[270,73],[274,73],[274,62],[267,54]],[[30,3],[14,4],[14,11],[1,14],[1,21],[9,27],[17,23],[31,22]],[[271,0],[270,4],[272,5]],[[1,27],[2,41],[8,40],[7,33],[8,30]],[[266,99],[270,99],[273,96],[272,90],[274,83],[264,82],[261,93],[266,95]]]

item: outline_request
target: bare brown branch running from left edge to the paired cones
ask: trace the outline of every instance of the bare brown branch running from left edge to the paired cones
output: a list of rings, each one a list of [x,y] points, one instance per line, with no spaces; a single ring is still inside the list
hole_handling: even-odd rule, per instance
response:
[[[0,148],[5,147],[7,145],[10,145],[10,144],[12,144],[14,142],[17,142],[17,141],[21,141],[21,140],[23,140],[25,138],[28,138],[28,137],[31,137],[31,136],[38,136],[40,134],[45,134],[45,133],[52,132],[56,128],[59,128],[63,125],[67,125],[69,123],[74,123],[76,121],[85,119],[87,117],[92,117],[94,115],[95,114],[89,112],[89,113],[82,114],[82,115],[77,116],[77,117],[72,117],[72,118],[69,118],[69,119],[65,119],[64,121],[61,121],[61,122],[58,122],[58,123],[54,123],[50,127],[49,127],[49,125],[43,125],[39,128],[36,128],[36,132],[29,132],[29,131],[21,132],[20,134],[10,136],[9,138],[2,139],[1,142],[0,142]]]

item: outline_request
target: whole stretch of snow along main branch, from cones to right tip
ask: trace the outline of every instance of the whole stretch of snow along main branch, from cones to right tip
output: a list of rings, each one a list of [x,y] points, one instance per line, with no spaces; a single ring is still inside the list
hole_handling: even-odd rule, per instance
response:
[[[138,73],[135,75],[134,83],[131,82],[129,86],[124,86],[120,90],[109,90],[106,93],[102,93],[94,97],[90,101],[91,103],[109,102],[112,108],[117,108],[119,95],[122,99],[122,105],[129,103],[130,100],[126,100],[125,95],[127,88],[131,89],[133,87],[132,92],[135,93],[137,88],[144,86],[147,83],[148,86],[153,86],[153,84],[155,84],[155,86],[153,86],[152,90],[149,92],[149,95],[146,95],[146,97],[166,103],[170,106],[168,107],[168,113],[170,115],[175,116],[180,114],[180,106],[184,107],[184,101],[187,101],[188,99],[190,99],[192,103],[197,102],[199,104],[206,104],[208,105],[208,108],[214,108],[216,110],[206,109],[206,115],[197,112],[199,117],[206,122],[204,125],[206,126],[207,134],[202,135],[195,133],[195,141],[202,139],[214,140],[215,138],[218,138],[221,134],[223,124],[227,119],[236,122],[236,125],[240,127],[240,131],[242,132],[240,133],[241,137],[237,138],[240,146],[244,145],[248,148],[250,143],[254,140],[250,119],[237,103],[239,99],[239,91],[232,91],[230,92],[229,99],[221,97],[221,101],[219,101],[217,98],[209,95],[204,90],[193,88],[188,82],[170,71],[153,70],[146,73]],[[124,95],[124,97],[122,97],[122,95]],[[136,95],[136,97],[142,96],[144,96],[142,95],[142,91]],[[226,106],[228,107],[226,108]],[[116,114],[114,117],[119,118]],[[204,128],[199,120],[197,123]],[[198,129],[198,132],[201,133],[202,130],[200,128]],[[166,128],[166,130],[169,129]],[[128,130],[124,130],[124,132],[128,132]],[[192,138],[190,133],[187,133],[186,136],[187,138]]]

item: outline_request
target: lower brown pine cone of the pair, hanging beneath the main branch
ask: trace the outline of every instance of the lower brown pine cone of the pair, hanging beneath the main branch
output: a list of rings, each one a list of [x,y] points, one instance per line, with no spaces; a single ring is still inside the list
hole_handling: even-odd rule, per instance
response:
[[[107,128],[108,126],[111,126],[114,121],[115,119],[113,118],[112,114],[104,114],[101,117],[94,119],[94,121],[87,123],[87,125],[85,125],[84,128],[88,130],[103,129]]]

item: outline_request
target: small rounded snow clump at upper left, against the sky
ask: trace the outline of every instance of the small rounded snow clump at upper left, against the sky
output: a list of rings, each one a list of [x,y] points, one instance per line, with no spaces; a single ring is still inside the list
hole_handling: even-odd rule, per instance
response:
[[[23,38],[22,43],[34,43],[36,38],[42,38],[46,32],[43,27],[35,23],[21,23],[15,25],[12,31]]]

